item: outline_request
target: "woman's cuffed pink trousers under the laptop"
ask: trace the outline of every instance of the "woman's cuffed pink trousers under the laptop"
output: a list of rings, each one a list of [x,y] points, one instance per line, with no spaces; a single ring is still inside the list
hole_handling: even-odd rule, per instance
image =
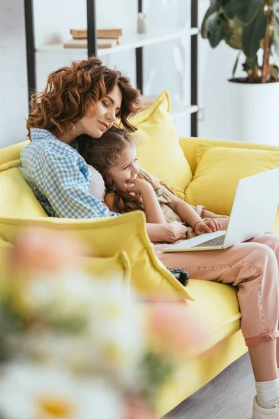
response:
[[[164,265],[184,267],[190,278],[238,287],[247,346],[279,337],[279,236],[266,233],[225,250],[163,253],[166,244],[153,246]]]

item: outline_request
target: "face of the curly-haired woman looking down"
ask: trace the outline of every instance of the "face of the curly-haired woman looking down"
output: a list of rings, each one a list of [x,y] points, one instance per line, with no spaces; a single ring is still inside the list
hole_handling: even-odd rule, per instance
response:
[[[100,138],[105,131],[112,128],[116,115],[121,108],[122,93],[119,86],[96,103],[95,111],[80,119],[76,124],[76,131],[80,134]]]

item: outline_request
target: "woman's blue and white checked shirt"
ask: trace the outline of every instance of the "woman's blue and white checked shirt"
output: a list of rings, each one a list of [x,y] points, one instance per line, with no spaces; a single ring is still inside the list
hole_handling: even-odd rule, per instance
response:
[[[19,168],[39,203],[50,216],[96,218],[107,207],[89,193],[91,174],[78,152],[45,129],[31,128],[31,142],[21,152]]]

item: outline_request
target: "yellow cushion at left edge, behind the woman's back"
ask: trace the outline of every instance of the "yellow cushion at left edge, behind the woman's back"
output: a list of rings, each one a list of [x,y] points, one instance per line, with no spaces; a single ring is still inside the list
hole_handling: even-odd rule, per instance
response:
[[[20,160],[0,166],[0,216],[15,218],[46,217],[33,191],[18,170]]]

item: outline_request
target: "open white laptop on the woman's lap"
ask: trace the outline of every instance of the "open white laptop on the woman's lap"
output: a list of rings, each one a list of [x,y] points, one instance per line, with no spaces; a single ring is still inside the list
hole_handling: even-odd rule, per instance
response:
[[[273,228],[279,204],[279,168],[245,177],[237,185],[227,230],[182,240],[162,249],[204,251],[227,249]]]

